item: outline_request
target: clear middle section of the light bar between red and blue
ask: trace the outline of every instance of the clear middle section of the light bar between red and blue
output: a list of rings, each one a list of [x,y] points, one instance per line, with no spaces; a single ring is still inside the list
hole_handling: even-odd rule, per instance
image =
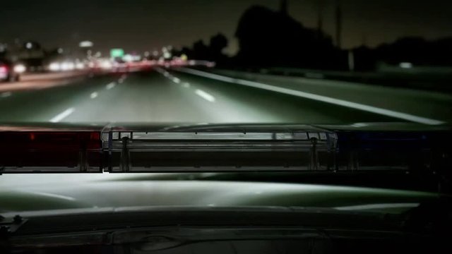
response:
[[[108,171],[330,170],[334,133],[102,133]]]

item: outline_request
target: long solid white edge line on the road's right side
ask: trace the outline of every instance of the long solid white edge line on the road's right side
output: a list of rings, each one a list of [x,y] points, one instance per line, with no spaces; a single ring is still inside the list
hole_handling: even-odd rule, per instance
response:
[[[393,111],[393,110],[389,110],[389,109],[381,109],[379,107],[374,107],[374,106],[369,106],[369,105],[364,105],[364,104],[359,104],[356,102],[349,102],[343,99],[335,99],[335,98],[331,98],[331,97],[326,97],[323,95],[315,95],[309,92],[302,92],[302,91],[297,91],[297,90],[292,90],[292,89],[288,89],[288,88],[283,88],[283,87],[276,87],[274,85],[267,85],[264,83],[258,83],[258,82],[254,82],[254,81],[249,81],[249,80],[242,80],[239,78],[230,78],[230,77],[226,77],[223,75],[218,75],[218,74],[213,74],[213,73],[206,73],[204,71],[198,71],[198,70],[194,70],[194,69],[190,69],[190,68],[179,68],[179,71],[182,71],[184,73],[189,73],[189,74],[193,74],[193,75],[199,75],[201,77],[204,78],[212,78],[215,80],[220,80],[220,81],[224,81],[227,83],[234,83],[234,84],[238,84],[238,85],[246,85],[249,87],[255,87],[255,88],[259,88],[259,89],[263,89],[263,90],[269,90],[269,91],[273,91],[273,92],[280,92],[286,95],[294,95],[297,97],[303,97],[303,98],[307,98],[307,99],[314,99],[316,101],[319,102],[326,102],[329,104],[335,104],[335,105],[339,105],[342,107],[348,107],[348,108],[352,108],[352,109],[359,109],[362,111],[368,111],[374,114],[381,114],[383,116],[391,116],[393,118],[397,118],[397,119],[403,119],[406,121],[412,121],[415,123],[424,123],[424,124],[428,124],[428,125],[439,125],[439,124],[443,124],[445,123],[444,121],[439,121],[439,120],[435,120],[435,119],[428,119],[422,116],[415,116],[412,114],[406,114],[406,113],[402,113],[402,112],[398,112],[398,111]]]

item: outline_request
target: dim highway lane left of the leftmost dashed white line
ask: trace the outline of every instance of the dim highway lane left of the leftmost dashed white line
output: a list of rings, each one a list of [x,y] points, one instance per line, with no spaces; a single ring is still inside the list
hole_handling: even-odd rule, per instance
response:
[[[42,90],[2,92],[0,94],[0,122],[49,122],[73,104],[83,103],[106,83],[118,79],[117,75],[103,75],[83,78],[63,85]]]

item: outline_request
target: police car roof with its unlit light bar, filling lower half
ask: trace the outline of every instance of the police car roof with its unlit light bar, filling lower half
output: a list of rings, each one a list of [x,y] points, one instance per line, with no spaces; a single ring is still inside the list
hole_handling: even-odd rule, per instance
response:
[[[1,253],[447,253],[452,237],[447,128],[0,129]]]

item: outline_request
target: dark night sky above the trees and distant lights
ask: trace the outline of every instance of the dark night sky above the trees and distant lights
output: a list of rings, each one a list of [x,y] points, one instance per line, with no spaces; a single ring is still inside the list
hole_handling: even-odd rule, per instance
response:
[[[398,37],[452,36],[451,0],[342,0],[343,47],[376,46]],[[290,0],[290,15],[308,27],[317,23],[318,0]],[[334,0],[323,0],[323,27],[334,34]],[[75,47],[92,40],[97,49],[143,52],[164,45],[191,45],[222,32],[233,39],[251,5],[273,10],[278,0],[14,0],[0,7],[0,42],[36,40],[44,47]],[[228,52],[237,51],[230,41]]]

